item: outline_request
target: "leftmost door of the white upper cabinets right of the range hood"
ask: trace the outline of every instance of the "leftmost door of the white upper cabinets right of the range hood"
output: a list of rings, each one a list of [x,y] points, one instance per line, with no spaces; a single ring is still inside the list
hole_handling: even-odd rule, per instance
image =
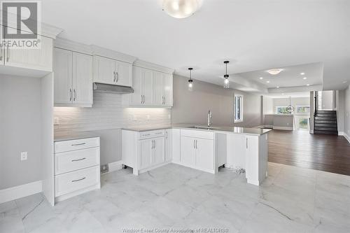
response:
[[[141,105],[144,103],[144,97],[142,92],[143,71],[142,68],[134,66],[132,68],[132,88],[134,93],[130,94],[130,105]]]

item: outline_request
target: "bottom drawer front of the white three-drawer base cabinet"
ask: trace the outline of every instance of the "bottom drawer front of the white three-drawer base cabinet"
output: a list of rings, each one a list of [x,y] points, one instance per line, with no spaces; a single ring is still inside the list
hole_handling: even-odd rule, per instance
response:
[[[55,197],[69,192],[97,185],[99,183],[99,166],[55,176]]]

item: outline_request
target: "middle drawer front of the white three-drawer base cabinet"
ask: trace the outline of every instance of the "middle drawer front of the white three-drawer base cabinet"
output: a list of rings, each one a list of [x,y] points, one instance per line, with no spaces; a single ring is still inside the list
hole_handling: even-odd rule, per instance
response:
[[[99,147],[55,154],[55,175],[99,165]]]

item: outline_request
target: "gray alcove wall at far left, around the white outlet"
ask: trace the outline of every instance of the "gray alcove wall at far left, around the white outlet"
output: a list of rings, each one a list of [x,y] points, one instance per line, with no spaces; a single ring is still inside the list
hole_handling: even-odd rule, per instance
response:
[[[20,153],[28,160],[20,161]],[[0,190],[41,180],[41,79],[0,76]]]

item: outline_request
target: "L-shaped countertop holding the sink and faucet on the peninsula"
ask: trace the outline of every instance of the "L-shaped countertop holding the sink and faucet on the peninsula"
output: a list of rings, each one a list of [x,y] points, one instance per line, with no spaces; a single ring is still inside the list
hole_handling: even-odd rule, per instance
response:
[[[266,134],[271,129],[258,129],[258,128],[245,128],[245,127],[233,127],[233,126],[211,126],[196,125],[196,124],[176,124],[176,125],[160,125],[155,127],[126,127],[124,130],[130,130],[135,132],[146,132],[157,129],[192,129],[206,132],[217,132],[217,133],[230,133],[230,134],[248,134],[248,135],[262,135]]]

